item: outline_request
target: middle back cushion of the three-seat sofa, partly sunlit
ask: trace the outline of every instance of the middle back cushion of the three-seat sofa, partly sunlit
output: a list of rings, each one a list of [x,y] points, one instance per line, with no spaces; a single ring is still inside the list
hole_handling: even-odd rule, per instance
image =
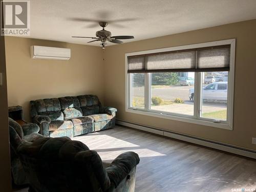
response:
[[[64,119],[72,119],[75,117],[81,117],[82,111],[80,109],[80,102],[77,97],[60,97],[58,98],[61,111],[63,113]]]

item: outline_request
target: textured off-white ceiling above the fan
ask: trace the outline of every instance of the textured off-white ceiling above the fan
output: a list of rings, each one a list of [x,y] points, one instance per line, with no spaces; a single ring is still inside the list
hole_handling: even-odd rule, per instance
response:
[[[135,39],[213,27],[256,18],[256,0],[31,0],[31,38],[87,44],[101,30],[97,21],[110,24],[112,35]],[[74,21],[74,18],[95,22]],[[126,20],[118,22],[115,20]],[[113,21],[113,22],[111,22]],[[94,25],[94,27],[93,27]],[[99,46],[99,42],[88,45]],[[109,45],[113,45],[109,42]]]

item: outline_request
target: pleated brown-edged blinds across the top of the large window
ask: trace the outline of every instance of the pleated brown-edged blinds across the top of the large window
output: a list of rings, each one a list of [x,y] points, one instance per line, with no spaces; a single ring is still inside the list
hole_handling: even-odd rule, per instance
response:
[[[128,57],[127,73],[229,71],[230,45]]]

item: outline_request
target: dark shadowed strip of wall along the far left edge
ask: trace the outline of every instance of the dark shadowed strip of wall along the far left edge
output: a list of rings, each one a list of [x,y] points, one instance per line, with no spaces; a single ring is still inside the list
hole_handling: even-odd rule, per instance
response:
[[[2,86],[0,86],[0,188],[1,191],[11,191],[11,165],[4,36],[0,36],[0,73],[3,74],[3,83]]]

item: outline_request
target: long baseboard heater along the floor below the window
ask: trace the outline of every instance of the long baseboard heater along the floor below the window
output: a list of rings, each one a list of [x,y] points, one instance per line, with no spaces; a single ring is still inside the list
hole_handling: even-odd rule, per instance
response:
[[[141,130],[141,131],[145,131],[145,132],[149,132],[149,133],[153,133],[161,136],[165,136],[165,137],[170,137],[173,139],[178,139],[181,141],[186,141],[186,142],[195,143],[195,144],[210,147],[210,148],[215,148],[216,150],[256,159],[256,151],[249,150],[247,148],[242,148],[242,147],[229,145],[221,142],[202,139],[202,138],[189,136],[185,134],[179,134],[175,132],[160,130],[154,127],[147,127],[144,125],[134,124],[134,123],[130,123],[122,120],[116,120],[116,124],[131,127],[133,129],[137,129],[137,130]]]

